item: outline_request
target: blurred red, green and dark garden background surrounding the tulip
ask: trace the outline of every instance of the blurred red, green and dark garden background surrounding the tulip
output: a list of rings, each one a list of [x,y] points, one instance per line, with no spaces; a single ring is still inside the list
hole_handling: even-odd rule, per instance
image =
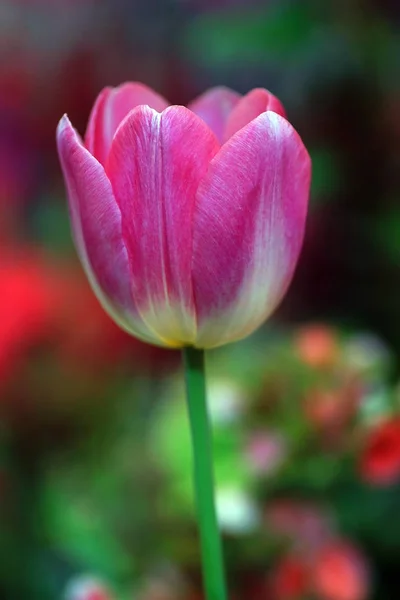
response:
[[[106,85],[266,87],[313,160],[274,318],[208,356],[231,600],[400,583],[397,0],[0,0],[0,598],[201,600],[178,353],[72,246],[55,128]]]

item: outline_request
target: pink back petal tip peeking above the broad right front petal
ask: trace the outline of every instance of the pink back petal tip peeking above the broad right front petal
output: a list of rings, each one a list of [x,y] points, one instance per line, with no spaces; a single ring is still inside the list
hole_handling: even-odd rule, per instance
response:
[[[251,90],[251,92],[243,96],[230,113],[223,141],[228,140],[239,129],[242,129],[247,123],[250,123],[250,121],[267,110],[272,110],[282,117],[286,116],[285,109],[278,98],[268,92],[268,90],[264,90],[263,88]]]

